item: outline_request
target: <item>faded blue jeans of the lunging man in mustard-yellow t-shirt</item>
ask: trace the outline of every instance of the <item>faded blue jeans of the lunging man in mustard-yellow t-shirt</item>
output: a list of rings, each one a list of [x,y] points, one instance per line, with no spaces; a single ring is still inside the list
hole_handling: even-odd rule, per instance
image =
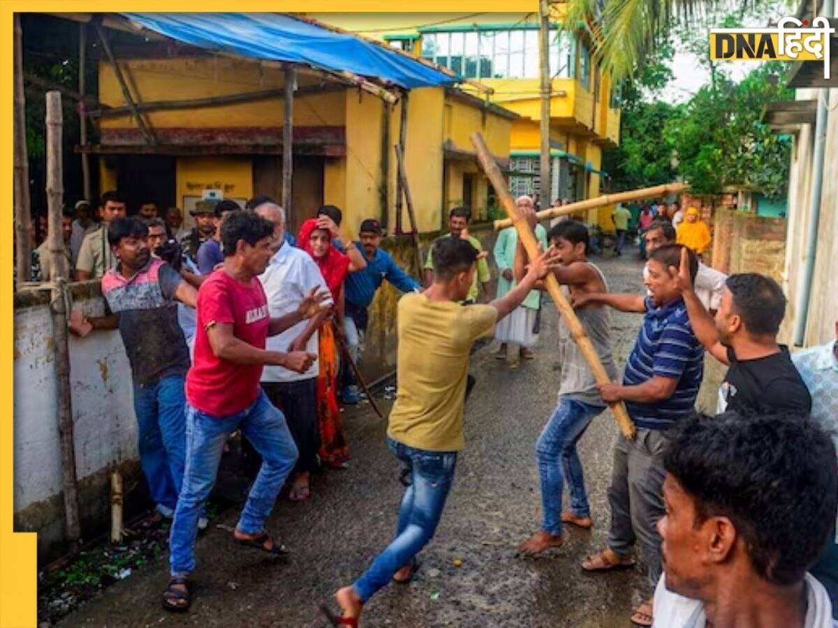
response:
[[[375,557],[370,569],[353,584],[361,602],[388,584],[396,571],[410,564],[437,530],[442,507],[451,490],[457,452],[427,451],[402,445],[391,438],[387,445],[411,472],[411,483],[401,500],[396,538]]]

